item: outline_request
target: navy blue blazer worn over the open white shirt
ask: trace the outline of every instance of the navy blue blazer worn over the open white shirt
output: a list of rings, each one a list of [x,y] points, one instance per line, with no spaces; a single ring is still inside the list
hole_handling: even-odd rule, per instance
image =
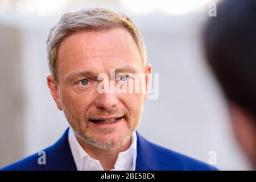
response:
[[[46,152],[46,164],[38,164],[38,153],[28,156],[0,170],[15,171],[52,171],[77,170],[71,148],[68,142],[68,129],[52,146],[43,150]],[[217,170],[217,168],[189,158],[167,148],[148,142],[137,132],[136,170]]]

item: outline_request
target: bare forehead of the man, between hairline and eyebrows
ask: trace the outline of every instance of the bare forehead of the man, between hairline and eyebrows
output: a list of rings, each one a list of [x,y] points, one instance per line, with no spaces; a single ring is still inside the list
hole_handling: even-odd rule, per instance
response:
[[[68,35],[57,55],[59,76],[90,70],[106,72],[124,66],[141,69],[139,49],[125,28],[108,31],[82,31]]]

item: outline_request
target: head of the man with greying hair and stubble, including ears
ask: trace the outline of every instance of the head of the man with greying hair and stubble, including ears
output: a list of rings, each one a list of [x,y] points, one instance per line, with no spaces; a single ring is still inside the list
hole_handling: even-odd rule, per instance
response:
[[[138,127],[147,94],[107,88],[111,81],[114,87],[131,86],[134,77],[129,74],[144,73],[139,89],[147,89],[151,72],[133,21],[106,9],[67,13],[49,32],[47,52],[52,97],[79,139],[107,150],[124,145]],[[115,69],[113,80],[110,69]],[[107,77],[98,80],[102,73]],[[100,84],[104,92],[99,92]]]

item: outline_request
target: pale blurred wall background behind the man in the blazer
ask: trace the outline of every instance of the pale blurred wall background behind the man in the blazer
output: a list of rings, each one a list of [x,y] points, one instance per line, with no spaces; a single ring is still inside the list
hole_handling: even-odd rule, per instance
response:
[[[230,128],[222,92],[207,65],[201,31],[212,0],[0,0],[0,167],[54,143],[68,127],[47,88],[46,39],[69,11],[106,7],[134,19],[159,97],[138,131],[152,142],[221,170],[250,169]]]

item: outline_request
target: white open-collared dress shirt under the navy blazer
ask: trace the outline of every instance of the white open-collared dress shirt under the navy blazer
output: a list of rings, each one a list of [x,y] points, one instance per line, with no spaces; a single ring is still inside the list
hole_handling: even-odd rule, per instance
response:
[[[103,171],[100,161],[92,159],[78,142],[76,135],[71,127],[68,131],[68,142],[76,163],[78,171]],[[131,135],[131,145],[123,152],[118,154],[114,168],[110,171],[135,171],[137,158],[137,135],[135,131]]]

